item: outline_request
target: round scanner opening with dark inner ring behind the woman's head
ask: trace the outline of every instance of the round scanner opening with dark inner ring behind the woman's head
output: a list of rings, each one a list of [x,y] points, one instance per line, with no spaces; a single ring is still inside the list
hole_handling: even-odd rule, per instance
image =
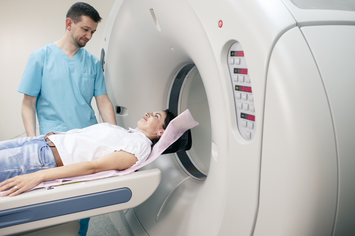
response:
[[[169,88],[167,108],[174,114],[189,109],[200,123],[191,129],[191,149],[174,155],[187,174],[195,179],[206,179],[211,159],[211,118],[203,81],[194,63],[187,63],[176,71]]]

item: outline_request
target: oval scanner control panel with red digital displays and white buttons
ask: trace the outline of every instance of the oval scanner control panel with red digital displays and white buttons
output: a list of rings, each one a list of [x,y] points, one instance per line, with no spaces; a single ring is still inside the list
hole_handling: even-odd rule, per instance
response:
[[[252,140],[256,131],[254,96],[244,51],[239,42],[229,48],[227,60],[238,129],[243,138]]]

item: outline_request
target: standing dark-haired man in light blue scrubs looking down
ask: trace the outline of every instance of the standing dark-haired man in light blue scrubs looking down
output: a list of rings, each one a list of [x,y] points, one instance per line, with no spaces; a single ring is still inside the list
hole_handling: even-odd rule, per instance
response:
[[[66,17],[64,36],[31,53],[17,90],[24,94],[21,113],[28,137],[36,136],[36,111],[40,134],[97,124],[93,97],[103,121],[117,125],[100,61],[83,48],[102,18],[83,2],[72,5]],[[88,223],[89,218],[80,220],[81,236]]]

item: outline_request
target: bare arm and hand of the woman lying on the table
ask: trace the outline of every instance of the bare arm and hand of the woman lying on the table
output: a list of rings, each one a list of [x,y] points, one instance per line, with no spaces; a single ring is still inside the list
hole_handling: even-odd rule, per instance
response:
[[[115,151],[95,161],[84,161],[67,166],[44,169],[31,174],[17,175],[0,183],[0,191],[6,192],[1,197],[16,196],[24,191],[32,189],[39,183],[47,180],[64,179],[74,176],[94,174],[100,171],[109,171],[112,169],[122,170],[133,166],[137,162],[137,157],[129,152]],[[13,186],[17,186],[17,191]]]

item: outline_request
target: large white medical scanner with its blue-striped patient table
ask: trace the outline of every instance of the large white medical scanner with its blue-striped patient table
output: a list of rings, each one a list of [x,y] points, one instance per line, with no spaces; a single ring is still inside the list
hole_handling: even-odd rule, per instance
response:
[[[0,235],[62,223],[75,235],[74,220],[104,213],[122,236],[355,235],[354,6],[117,0],[101,63],[118,124],[189,109],[192,147],[129,175],[1,198],[0,224],[13,218]]]

